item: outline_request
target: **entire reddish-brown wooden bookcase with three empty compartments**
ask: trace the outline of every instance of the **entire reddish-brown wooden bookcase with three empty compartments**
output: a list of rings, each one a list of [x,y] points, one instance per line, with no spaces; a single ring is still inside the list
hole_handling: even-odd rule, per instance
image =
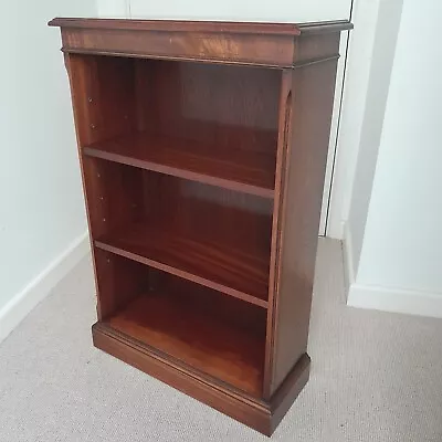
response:
[[[94,345],[271,434],[308,378],[339,34],[351,25],[50,25],[71,82]]]

